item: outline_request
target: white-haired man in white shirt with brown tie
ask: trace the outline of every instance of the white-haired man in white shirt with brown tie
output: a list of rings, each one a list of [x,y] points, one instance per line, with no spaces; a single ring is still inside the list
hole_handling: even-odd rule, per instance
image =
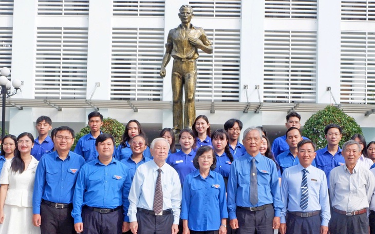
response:
[[[182,190],[177,172],[165,163],[170,145],[157,138],[150,148],[154,160],[138,167],[130,188],[130,230],[134,234],[176,234]]]

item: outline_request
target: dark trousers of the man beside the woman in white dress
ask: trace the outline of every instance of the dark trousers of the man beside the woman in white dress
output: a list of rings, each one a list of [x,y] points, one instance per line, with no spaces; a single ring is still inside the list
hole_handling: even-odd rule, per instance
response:
[[[41,233],[42,234],[72,234],[74,220],[70,208],[58,209],[42,202],[41,204]]]

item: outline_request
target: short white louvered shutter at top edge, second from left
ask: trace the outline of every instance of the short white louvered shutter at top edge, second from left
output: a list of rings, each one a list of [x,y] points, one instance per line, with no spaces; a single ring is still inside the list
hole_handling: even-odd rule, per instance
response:
[[[88,15],[89,0],[38,0],[38,15]]]

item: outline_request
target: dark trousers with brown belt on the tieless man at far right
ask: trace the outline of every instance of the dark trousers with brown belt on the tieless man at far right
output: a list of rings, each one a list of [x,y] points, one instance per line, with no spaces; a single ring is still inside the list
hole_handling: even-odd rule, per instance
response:
[[[367,213],[357,216],[346,216],[345,214],[331,213],[329,222],[330,234],[367,234],[368,233]]]

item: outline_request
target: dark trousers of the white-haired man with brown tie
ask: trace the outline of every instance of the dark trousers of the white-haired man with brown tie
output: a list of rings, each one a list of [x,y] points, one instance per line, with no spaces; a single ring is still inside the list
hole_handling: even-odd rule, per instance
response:
[[[173,213],[164,216],[137,212],[137,234],[166,234],[172,233]]]

